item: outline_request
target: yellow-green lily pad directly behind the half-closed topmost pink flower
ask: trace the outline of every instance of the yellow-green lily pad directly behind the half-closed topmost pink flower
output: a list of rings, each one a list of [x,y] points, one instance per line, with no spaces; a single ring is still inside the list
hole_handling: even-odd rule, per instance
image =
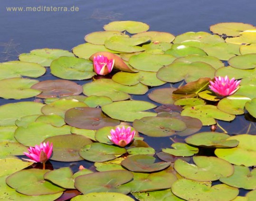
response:
[[[89,59],[96,52],[112,52],[112,53],[121,53],[118,51],[113,51],[105,48],[105,46],[99,44],[79,44],[72,49],[72,52],[78,57],[83,59]]]

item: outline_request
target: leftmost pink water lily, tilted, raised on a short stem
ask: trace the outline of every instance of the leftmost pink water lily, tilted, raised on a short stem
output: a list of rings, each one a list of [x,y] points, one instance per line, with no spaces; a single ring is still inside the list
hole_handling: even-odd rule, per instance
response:
[[[53,145],[52,143],[49,145],[49,142],[41,143],[35,147],[29,147],[28,153],[24,152],[24,154],[30,159],[23,159],[34,163],[45,163],[51,157],[52,149]]]

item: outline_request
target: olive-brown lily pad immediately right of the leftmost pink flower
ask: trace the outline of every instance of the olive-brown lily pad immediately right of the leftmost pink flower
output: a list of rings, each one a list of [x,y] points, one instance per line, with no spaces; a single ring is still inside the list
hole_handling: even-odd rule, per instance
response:
[[[79,150],[87,144],[93,143],[83,135],[67,134],[52,136],[44,140],[53,143],[53,155],[51,160],[72,162],[83,160],[79,156]]]

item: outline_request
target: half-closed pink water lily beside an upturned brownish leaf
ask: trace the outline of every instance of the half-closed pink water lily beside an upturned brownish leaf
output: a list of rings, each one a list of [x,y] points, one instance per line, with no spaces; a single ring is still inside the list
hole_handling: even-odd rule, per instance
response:
[[[113,70],[114,59],[108,59],[104,55],[98,55],[94,57],[93,61],[94,71],[98,75],[106,75]]]

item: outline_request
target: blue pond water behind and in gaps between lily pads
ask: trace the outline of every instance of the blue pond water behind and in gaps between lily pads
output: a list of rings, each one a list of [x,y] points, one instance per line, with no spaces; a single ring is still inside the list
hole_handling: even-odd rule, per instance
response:
[[[11,7],[67,7],[77,11],[8,11]],[[220,22],[243,22],[256,25],[256,1],[254,0],[11,0],[0,2],[0,62],[15,61],[18,55],[40,48],[57,48],[71,51],[78,44],[84,43],[84,36],[103,31],[102,27],[112,21],[134,20],[150,26],[152,31],[169,32],[180,35],[185,32],[209,32],[209,26]],[[210,32],[209,32],[210,33]],[[227,62],[226,62],[227,64]],[[49,68],[38,80],[58,79],[50,74]],[[76,81],[83,85],[88,81]],[[172,85],[179,87],[181,82]],[[170,87],[170,83],[152,87],[142,95],[133,95],[133,100],[145,100],[160,106],[148,98],[156,88]],[[35,97],[28,101],[35,101]],[[24,101],[22,99],[21,101]],[[19,100],[0,98],[0,105],[16,103]],[[232,122],[218,121],[230,135],[239,133],[256,134],[255,118],[239,115]],[[203,126],[199,132],[210,131],[210,126]],[[222,132],[220,127],[218,132]],[[170,137],[153,138],[144,136],[145,141],[160,152],[170,148]],[[173,136],[172,136],[173,137]],[[182,141],[182,137],[173,137]],[[208,153],[203,153],[207,155]],[[209,153],[212,155],[212,153]],[[51,161],[54,169],[69,166],[77,171],[80,165],[90,168],[93,163]],[[241,196],[247,191],[241,190]]]

